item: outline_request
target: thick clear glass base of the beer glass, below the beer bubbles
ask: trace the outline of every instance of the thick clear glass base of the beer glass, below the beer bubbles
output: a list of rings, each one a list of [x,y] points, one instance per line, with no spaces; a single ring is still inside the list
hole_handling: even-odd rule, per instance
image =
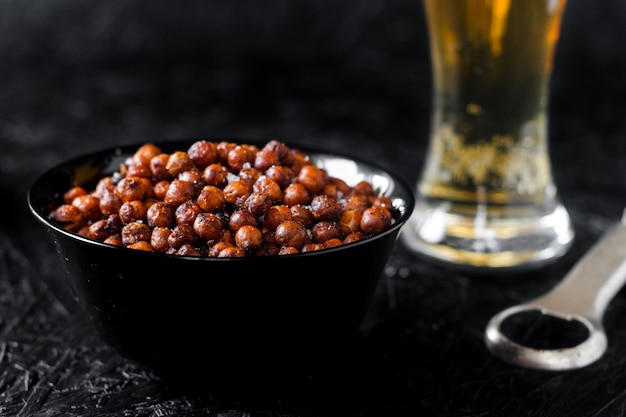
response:
[[[414,252],[471,269],[528,269],[562,256],[574,232],[567,210],[518,209],[503,216],[454,209],[449,202],[418,201],[400,235]]]

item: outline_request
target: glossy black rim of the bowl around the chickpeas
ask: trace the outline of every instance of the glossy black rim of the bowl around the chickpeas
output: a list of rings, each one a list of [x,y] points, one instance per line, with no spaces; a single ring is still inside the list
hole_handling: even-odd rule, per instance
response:
[[[229,142],[238,143],[238,144],[251,144],[251,145],[261,144],[262,145],[268,142],[270,139],[262,139],[262,138],[223,139],[223,138],[214,138],[214,137],[159,139],[159,140],[153,140],[153,141],[129,142],[129,143],[125,143],[122,145],[101,148],[99,150],[95,150],[92,152],[83,152],[69,159],[56,163],[53,166],[45,169],[41,174],[39,174],[32,181],[30,187],[27,190],[27,195],[26,195],[26,200],[27,200],[29,210],[31,214],[48,229],[48,231],[52,230],[71,240],[78,241],[78,242],[81,242],[81,243],[84,243],[93,247],[99,247],[99,248],[109,250],[109,251],[124,251],[126,253],[131,253],[132,251],[132,253],[136,253],[139,256],[148,256],[148,257],[167,256],[167,257],[181,259],[181,261],[185,260],[186,262],[259,262],[260,259],[269,259],[269,260],[275,261],[276,259],[284,259],[284,258],[295,259],[295,258],[304,258],[304,257],[311,257],[311,256],[321,256],[323,254],[340,252],[346,249],[356,248],[361,245],[367,245],[368,243],[372,241],[382,239],[390,234],[398,235],[400,232],[400,229],[405,225],[405,223],[408,221],[409,217],[411,216],[414,206],[415,206],[415,195],[413,193],[412,188],[408,185],[408,183],[403,178],[401,178],[393,170],[383,168],[377,162],[369,161],[361,157],[351,156],[347,152],[324,149],[322,147],[309,145],[307,143],[291,143],[289,141],[285,141],[281,139],[278,139],[278,140],[286,144],[289,148],[303,151],[304,153],[311,156],[312,158],[315,158],[315,157],[319,158],[319,157],[326,156],[326,157],[332,157],[332,158],[345,159],[351,162],[355,162],[359,165],[367,166],[370,169],[374,169],[377,172],[384,174],[389,179],[391,179],[394,187],[397,187],[398,189],[401,190],[400,193],[402,194],[402,197],[401,198],[399,197],[401,199],[401,208],[399,209],[400,216],[398,218],[395,218],[391,227],[384,230],[383,232],[377,233],[372,236],[368,236],[356,242],[342,244],[342,245],[331,247],[331,248],[325,248],[319,251],[301,252],[301,253],[289,254],[289,255],[276,254],[276,255],[263,255],[263,256],[245,256],[245,257],[236,257],[236,258],[215,258],[215,257],[171,255],[171,254],[164,254],[164,253],[140,251],[136,249],[129,249],[125,247],[119,247],[119,246],[106,244],[104,242],[100,242],[94,239],[89,239],[87,237],[79,235],[78,233],[68,231],[64,229],[63,227],[59,226],[58,224],[56,224],[55,222],[53,222],[47,216],[47,213],[44,213],[45,208],[35,204],[34,202],[34,199],[35,199],[34,193],[37,187],[46,178],[54,175],[57,172],[67,172],[69,169],[73,167],[80,166],[81,163],[88,163],[89,161],[104,160],[105,158],[124,158],[124,157],[132,155],[139,146],[144,145],[146,143],[151,143],[161,148],[167,148],[167,149],[169,148],[174,149],[180,145],[181,149],[176,149],[176,150],[182,150],[184,149],[185,146],[189,147],[193,142],[200,141],[200,140],[207,140],[207,141],[212,141],[215,143],[220,142],[220,141],[229,141]],[[166,151],[166,152],[169,152],[169,151]],[[391,195],[393,195],[393,192],[394,192],[394,189],[392,189]],[[44,196],[41,196],[41,198],[43,197]],[[47,197],[48,197],[48,202],[52,202],[54,200],[57,200],[60,197],[60,195],[57,194],[57,195],[51,195]]]

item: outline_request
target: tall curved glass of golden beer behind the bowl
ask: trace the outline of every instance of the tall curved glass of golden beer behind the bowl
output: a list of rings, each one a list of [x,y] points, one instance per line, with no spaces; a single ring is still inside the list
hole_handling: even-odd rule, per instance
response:
[[[521,268],[574,233],[553,182],[548,85],[566,0],[423,0],[431,134],[401,236],[427,257]]]

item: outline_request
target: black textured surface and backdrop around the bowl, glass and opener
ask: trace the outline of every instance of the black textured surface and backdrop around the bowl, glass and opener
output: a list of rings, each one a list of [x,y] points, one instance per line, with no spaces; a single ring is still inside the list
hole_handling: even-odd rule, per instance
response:
[[[0,16],[0,415],[626,415],[623,292],[605,315],[608,350],[586,368],[516,368],[483,343],[491,315],[551,288],[626,205],[622,0],[570,0],[556,56],[551,154],[571,250],[539,271],[480,276],[398,244],[358,366],[226,397],[161,380],[98,340],[26,191],[71,156],[182,137],[316,143],[414,182],[431,85],[420,3],[13,1]]]

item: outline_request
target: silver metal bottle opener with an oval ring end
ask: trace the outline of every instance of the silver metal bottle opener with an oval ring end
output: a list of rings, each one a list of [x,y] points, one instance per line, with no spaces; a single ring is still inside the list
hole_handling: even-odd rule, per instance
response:
[[[485,330],[487,347],[502,360],[527,368],[569,370],[587,366],[598,360],[606,350],[602,317],[625,281],[626,210],[621,222],[613,225],[551,291],[493,316]],[[538,347],[512,340],[509,337],[511,332],[507,333],[508,336],[503,332],[505,324],[515,323],[515,320],[519,324],[520,319],[529,318],[550,320],[552,324],[558,321],[563,329],[571,330],[573,325],[584,326],[585,336],[574,344]],[[526,323],[529,327],[536,324],[533,321]],[[552,328],[552,324],[543,327]],[[517,330],[518,335],[521,334],[519,330],[524,331]],[[565,332],[559,332],[559,335],[565,335]]]

